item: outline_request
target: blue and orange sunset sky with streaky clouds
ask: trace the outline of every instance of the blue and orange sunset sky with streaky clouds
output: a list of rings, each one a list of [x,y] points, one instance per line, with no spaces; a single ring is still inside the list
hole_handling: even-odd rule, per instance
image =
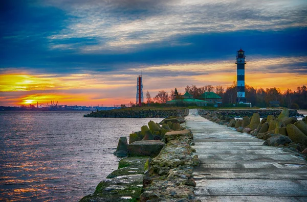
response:
[[[113,106],[236,81],[307,86],[307,1],[2,0],[0,106]]]

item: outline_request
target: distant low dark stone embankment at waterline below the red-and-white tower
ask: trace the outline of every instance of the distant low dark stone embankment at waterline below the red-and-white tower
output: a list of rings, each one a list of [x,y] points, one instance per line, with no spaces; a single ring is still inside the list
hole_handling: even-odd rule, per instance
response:
[[[176,109],[176,110],[109,110],[109,111],[97,111],[90,114],[85,114],[84,117],[93,118],[165,118],[169,116],[185,116],[188,110]]]

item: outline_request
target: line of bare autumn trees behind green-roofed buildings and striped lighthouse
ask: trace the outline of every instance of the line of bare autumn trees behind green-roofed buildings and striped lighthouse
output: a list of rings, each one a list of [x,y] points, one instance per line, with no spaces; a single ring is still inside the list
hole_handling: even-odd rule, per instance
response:
[[[186,86],[185,91],[188,91],[196,99],[200,99],[204,92],[214,92],[222,97],[222,106],[232,106],[236,103],[237,84],[234,81],[231,86],[226,89],[221,86],[206,85],[197,87],[195,85]],[[271,101],[278,101],[281,107],[287,107],[290,109],[307,109],[307,87],[298,86],[295,91],[287,89],[281,92],[279,88],[254,88],[249,85],[245,85],[245,97],[247,102],[251,103],[253,107],[270,107]],[[165,104],[168,100],[181,99],[182,94],[178,92],[177,88],[171,89],[170,93],[161,90],[154,97],[151,97],[150,93],[146,92],[146,104]],[[133,106],[133,103],[130,102]]]

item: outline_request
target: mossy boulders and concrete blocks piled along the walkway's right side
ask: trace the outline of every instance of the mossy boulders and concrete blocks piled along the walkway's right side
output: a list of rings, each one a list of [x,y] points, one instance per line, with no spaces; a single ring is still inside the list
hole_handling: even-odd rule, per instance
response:
[[[260,114],[255,112],[251,117],[234,119],[230,116],[210,113],[200,110],[202,117],[220,125],[227,125],[238,132],[251,134],[259,139],[266,140],[264,145],[278,146],[288,152],[307,159],[307,122],[306,117],[297,120],[295,116],[289,117],[288,109],[282,110],[278,115],[268,115],[260,121]]]

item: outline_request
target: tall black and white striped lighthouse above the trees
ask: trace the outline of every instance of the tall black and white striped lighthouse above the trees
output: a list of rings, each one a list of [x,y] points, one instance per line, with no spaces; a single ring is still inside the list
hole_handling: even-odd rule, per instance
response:
[[[235,64],[237,65],[237,103],[246,103],[245,98],[245,51],[237,50]]]

